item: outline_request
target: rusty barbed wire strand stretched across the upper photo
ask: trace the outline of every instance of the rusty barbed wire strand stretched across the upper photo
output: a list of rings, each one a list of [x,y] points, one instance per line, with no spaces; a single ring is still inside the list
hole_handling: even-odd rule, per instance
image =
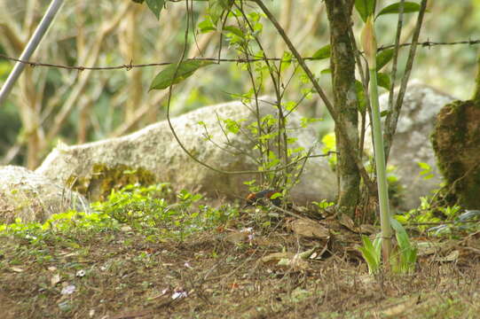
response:
[[[433,41],[426,41],[422,43],[418,43],[421,47],[432,47],[432,46],[439,46],[439,45],[458,45],[458,44],[468,44],[468,45],[476,45],[480,44],[480,39],[477,40],[463,40],[463,41],[456,41],[456,42],[433,42]],[[400,44],[400,47],[405,47],[405,46],[410,46],[412,43],[402,43]],[[378,51],[383,51],[383,50],[388,50],[391,48],[394,48],[395,44],[390,44],[390,45],[382,45],[381,47],[378,48]],[[119,69],[126,69],[127,71],[130,71],[132,68],[137,68],[137,67],[151,67],[151,66],[169,66],[171,64],[175,64],[177,62],[159,62],[159,63],[146,63],[146,64],[132,64],[132,61],[130,61],[130,64],[123,64],[123,65],[118,65],[118,66],[66,66],[66,65],[59,65],[59,64],[53,64],[53,63],[43,63],[43,62],[37,62],[37,61],[26,61],[26,60],[21,60],[20,58],[12,58],[4,54],[0,54],[0,58],[4,58],[7,60],[15,61],[15,62],[20,62],[23,64],[26,64],[28,66],[46,66],[46,67],[56,67],[56,68],[63,68],[67,70],[77,70],[77,71],[85,71],[85,70],[92,70],[92,71],[107,71],[107,70],[119,70]],[[318,60],[319,58],[314,58],[314,57],[306,57],[303,58],[304,60]],[[216,61],[216,62],[235,62],[235,63],[251,63],[251,62],[258,62],[258,61],[264,61],[264,60],[269,60],[269,61],[280,61],[282,58],[187,58],[185,60],[199,60],[199,61]]]

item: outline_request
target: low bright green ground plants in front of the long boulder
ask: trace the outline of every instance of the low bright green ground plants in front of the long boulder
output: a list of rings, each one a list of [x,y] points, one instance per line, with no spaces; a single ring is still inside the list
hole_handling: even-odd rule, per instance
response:
[[[200,194],[180,191],[172,202],[168,183],[147,187],[128,185],[112,191],[106,201],[91,204],[90,214],[68,211],[53,214],[43,224],[24,223],[20,219],[12,224],[0,225],[0,235],[10,234],[38,242],[51,234],[72,232],[121,230],[131,231],[147,238],[174,238],[183,240],[194,232],[210,230],[238,215],[230,206],[214,209],[199,204]]]

